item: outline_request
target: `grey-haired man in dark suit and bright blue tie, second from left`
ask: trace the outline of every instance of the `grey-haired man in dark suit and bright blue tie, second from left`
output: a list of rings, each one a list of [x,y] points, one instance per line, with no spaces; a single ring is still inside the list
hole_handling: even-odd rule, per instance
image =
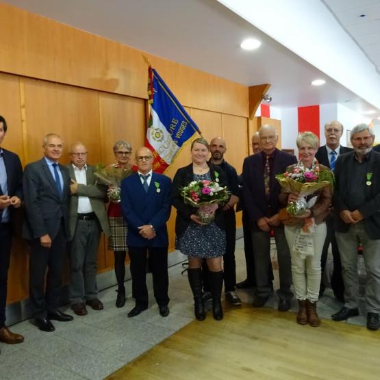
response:
[[[70,177],[67,168],[58,164],[63,149],[60,136],[47,134],[43,149],[45,157],[42,160],[25,166],[23,238],[29,241],[31,249],[29,286],[36,326],[42,331],[54,331],[51,320],[65,322],[73,319],[58,309],[68,237]]]

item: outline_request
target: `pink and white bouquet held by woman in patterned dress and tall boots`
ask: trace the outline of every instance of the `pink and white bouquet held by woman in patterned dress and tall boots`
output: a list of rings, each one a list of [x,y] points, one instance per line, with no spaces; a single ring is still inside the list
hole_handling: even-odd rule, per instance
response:
[[[185,203],[197,207],[197,215],[203,223],[211,223],[215,218],[210,205],[223,205],[229,200],[227,187],[220,186],[218,181],[192,181],[181,190],[181,195]]]

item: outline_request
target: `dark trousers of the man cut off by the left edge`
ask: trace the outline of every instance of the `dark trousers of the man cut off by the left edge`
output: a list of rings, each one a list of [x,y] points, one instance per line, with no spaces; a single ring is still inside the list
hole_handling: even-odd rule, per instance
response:
[[[12,233],[10,223],[0,223],[0,329],[5,326],[5,305],[7,303],[11,247]]]

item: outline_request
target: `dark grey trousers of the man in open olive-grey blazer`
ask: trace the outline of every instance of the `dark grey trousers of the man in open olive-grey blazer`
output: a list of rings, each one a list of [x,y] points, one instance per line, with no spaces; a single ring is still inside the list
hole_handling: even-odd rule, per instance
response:
[[[97,219],[77,220],[70,243],[70,303],[97,298],[97,258],[101,226]]]

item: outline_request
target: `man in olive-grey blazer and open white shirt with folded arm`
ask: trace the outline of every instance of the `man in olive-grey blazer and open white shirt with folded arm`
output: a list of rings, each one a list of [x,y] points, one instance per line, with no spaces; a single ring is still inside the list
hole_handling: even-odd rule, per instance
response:
[[[81,142],[71,146],[71,197],[68,202],[70,242],[70,303],[78,316],[87,314],[86,304],[102,310],[97,298],[97,257],[101,231],[110,235],[104,199],[107,187],[95,184],[94,167],[87,164],[87,149]]]

